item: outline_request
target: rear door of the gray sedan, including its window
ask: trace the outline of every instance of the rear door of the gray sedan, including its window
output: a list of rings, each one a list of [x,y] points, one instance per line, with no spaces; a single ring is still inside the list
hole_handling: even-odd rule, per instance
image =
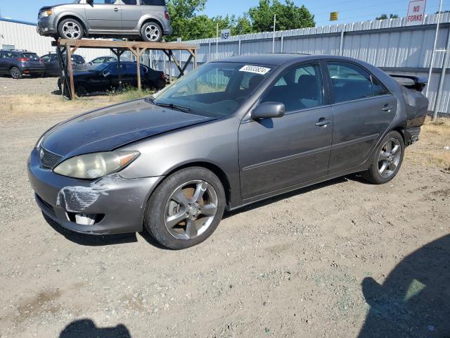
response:
[[[333,100],[333,145],[328,173],[361,165],[397,113],[397,99],[351,62],[327,62]]]

